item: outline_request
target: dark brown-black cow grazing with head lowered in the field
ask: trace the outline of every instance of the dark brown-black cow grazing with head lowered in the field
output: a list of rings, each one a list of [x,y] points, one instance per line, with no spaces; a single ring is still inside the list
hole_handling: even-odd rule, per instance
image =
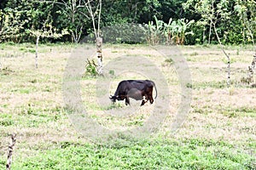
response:
[[[152,96],[153,87],[155,89],[155,98],[157,97],[157,90],[155,88],[154,82],[150,80],[124,80],[119,82],[119,86],[116,89],[114,95],[110,95],[109,99],[113,101],[124,100],[125,105],[130,105],[130,99],[141,100],[143,99],[142,105],[144,105],[148,99],[150,104],[153,104],[154,99]]]

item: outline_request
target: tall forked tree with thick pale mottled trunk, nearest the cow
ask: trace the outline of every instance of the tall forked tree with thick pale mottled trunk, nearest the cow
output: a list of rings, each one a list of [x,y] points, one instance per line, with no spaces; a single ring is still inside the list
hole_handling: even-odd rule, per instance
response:
[[[49,3],[49,1],[45,2]],[[68,0],[67,2],[61,0],[61,2],[51,3],[62,5],[61,13],[67,16],[70,15],[69,20],[71,20],[72,29],[69,29],[69,31],[72,33],[74,42],[79,42],[84,23],[86,22],[86,20],[81,19],[85,18],[92,21],[93,32],[96,37],[97,72],[99,75],[102,75],[102,37],[100,31],[102,0]],[[79,22],[77,23],[75,20]]]

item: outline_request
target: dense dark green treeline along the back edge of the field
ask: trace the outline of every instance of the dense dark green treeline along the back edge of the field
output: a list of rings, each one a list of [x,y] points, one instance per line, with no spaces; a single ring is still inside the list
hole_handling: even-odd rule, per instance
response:
[[[85,3],[1,0],[0,42],[35,42],[38,35],[44,42],[93,40]],[[90,1],[91,8],[98,3]],[[238,44],[256,36],[254,0],[103,0],[101,19],[104,42],[217,43],[218,34],[224,44]]]

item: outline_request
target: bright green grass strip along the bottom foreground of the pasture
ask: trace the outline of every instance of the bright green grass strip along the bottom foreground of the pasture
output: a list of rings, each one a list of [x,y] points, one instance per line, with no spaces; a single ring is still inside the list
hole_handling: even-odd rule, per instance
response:
[[[253,169],[255,157],[225,143],[131,141],[124,144],[61,143],[36,156],[14,157],[13,169]],[[3,162],[0,161],[4,166]]]

